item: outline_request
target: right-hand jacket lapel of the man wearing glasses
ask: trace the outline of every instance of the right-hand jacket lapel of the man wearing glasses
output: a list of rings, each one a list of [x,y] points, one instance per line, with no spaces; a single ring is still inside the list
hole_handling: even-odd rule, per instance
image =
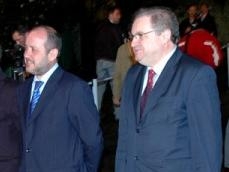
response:
[[[169,87],[174,79],[177,64],[181,58],[181,52],[177,49],[172,55],[170,60],[165,65],[161,75],[159,76],[153,90],[149,94],[148,100],[146,102],[145,110],[143,112],[143,121],[146,119],[147,114],[158,102],[158,99],[166,94]]]

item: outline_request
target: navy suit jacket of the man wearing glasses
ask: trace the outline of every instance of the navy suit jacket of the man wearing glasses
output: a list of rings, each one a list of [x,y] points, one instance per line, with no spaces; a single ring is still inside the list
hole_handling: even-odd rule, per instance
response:
[[[221,114],[213,70],[176,50],[148,97],[133,66],[120,107],[116,172],[220,172]]]

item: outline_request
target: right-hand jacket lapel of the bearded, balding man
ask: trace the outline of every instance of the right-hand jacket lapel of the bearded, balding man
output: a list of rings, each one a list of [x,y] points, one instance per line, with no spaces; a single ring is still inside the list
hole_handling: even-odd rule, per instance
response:
[[[62,74],[63,70],[61,68],[57,68],[51,75],[41,93],[40,99],[37,102],[37,105],[32,112],[30,119],[27,121],[27,125],[33,122],[33,120],[36,119],[41,111],[48,105],[50,102],[50,97],[53,97],[57,90],[58,81],[61,79]]]

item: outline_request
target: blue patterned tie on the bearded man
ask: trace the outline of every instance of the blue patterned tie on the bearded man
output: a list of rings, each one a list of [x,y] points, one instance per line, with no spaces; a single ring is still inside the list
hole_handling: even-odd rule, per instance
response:
[[[42,86],[44,82],[42,81],[36,81],[35,82],[35,87],[34,87],[34,90],[33,90],[33,96],[32,96],[32,99],[31,99],[31,102],[30,102],[30,114],[33,112],[39,98],[40,98],[40,87]]]

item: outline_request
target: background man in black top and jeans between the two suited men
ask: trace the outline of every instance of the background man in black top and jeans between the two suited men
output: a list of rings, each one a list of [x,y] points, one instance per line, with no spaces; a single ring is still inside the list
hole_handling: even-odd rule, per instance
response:
[[[106,19],[97,27],[95,38],[96,73],[98,81],[113,76],[118,47],[123,43],[123,32],[119,25],[122,14],[119,6],[109,6]],[[111,83],[112,81],[110,81]],[[98,109],[107,82],[98,83]],[[112,86],[112,83],[111,83]]]

